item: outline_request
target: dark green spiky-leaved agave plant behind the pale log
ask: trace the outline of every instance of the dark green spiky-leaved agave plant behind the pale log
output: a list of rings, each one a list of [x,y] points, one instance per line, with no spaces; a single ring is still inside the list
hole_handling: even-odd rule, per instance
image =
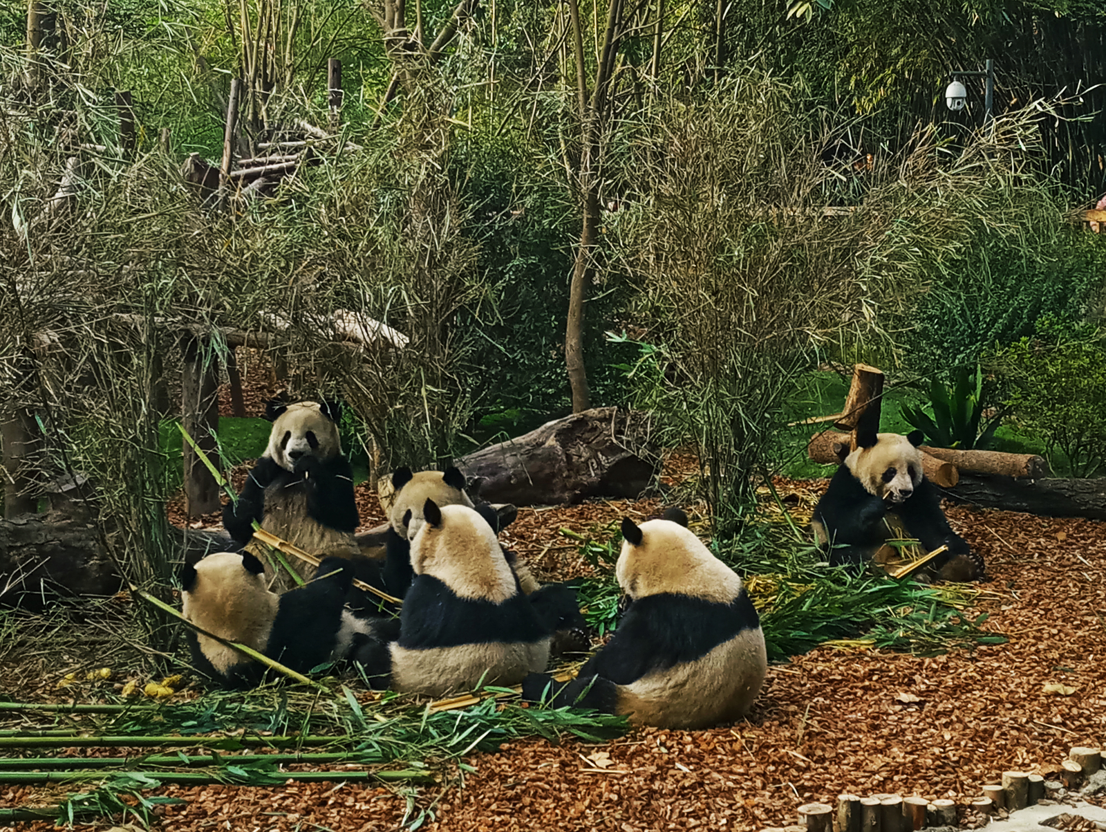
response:
[[[930,444],[940,448],[987,447],[1006,415],[1003,409],[983,420],[983,368],[979,364],[974,374],[967,367],[958,367],[952,375],[952,386],[933,379],[929,386],[929,405],[932,416],[910,405],[901,405],[899,409],[911,427],[921,430]]]

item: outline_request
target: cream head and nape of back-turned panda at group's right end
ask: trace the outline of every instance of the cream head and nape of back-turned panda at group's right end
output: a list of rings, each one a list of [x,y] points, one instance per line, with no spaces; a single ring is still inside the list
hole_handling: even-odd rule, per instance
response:
[[[618,585],[630,599],[675,593],[729,604],[741,593],[738,573],[690,529],[671,520],[646,520],[636,528],[640,541],[625,538],[615,564]]]

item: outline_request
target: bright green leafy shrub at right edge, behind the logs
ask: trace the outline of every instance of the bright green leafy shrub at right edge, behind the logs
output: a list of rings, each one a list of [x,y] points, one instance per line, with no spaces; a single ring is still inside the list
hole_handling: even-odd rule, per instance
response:
[[[1000,350],[992,367],[1006,405],[1043,437],[1054,469],[1060,454],[1073,477],[1106,469],[1106,340],[1100,331],[1042,319],[1035,336]]]

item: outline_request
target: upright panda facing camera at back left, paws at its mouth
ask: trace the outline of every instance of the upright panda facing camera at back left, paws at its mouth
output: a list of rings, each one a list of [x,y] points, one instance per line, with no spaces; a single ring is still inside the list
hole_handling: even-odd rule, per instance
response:
[[[353,468],[342,454],[338,405],[331,402],[270,403],[269,445],[238,496],[223,507],[222,523],[239,545],[253,535],[253,521],[279,538],[320,558],[359,554],[354,532],[359,522],[353,490]],[[261,544],[251,550],[264,554]],[[268,561],[268,558],[264,558]],[[310,564],[288,558],[301,578]],[[267,564],[275,589],[292,583]]]

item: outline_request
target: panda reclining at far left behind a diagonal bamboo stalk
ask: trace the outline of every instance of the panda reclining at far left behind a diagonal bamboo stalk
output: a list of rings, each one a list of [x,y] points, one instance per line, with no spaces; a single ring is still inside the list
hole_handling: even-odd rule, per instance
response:
[[[185,618],[212,635],[240,642],[306,673],[344,658],[356,634],[372,625],[344,610],[352,575],[342,559],[328,559],[316,580],[282,595],[265,585],[264,566],[250,552],[216,552],[179,573]],[[226,687],[252,687],[264,673],[257,662],[191,628],[192,666]]]

